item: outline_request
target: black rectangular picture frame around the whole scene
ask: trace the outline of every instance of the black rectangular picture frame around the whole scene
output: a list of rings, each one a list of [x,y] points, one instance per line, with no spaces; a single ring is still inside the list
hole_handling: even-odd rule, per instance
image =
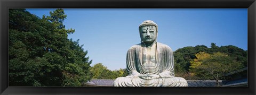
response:
[[[1,0],[0,93],[1,94],[256,94],[255,0]],[[8,87],[9,8],[247,8],[248,87]],[[21,79],[22,80],[22,79]]]

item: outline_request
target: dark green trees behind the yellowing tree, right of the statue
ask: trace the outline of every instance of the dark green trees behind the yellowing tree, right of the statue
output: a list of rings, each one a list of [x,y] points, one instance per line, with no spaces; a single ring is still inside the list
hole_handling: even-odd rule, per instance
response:
[[[194,73],[191,72],[190,66],[193,64],[191,62],[196,58],[196,54],[200,52],[210,55],[217,52],[224,53],[233,58],[237,63],[242,63],[243,67],[247,66],[247,50],[232,45],[218,47],[215,43],[211,43],[210,48],[204,45],[197,45],[195,47],[179,48],[174,51],[175,76],[198,80],[198,77],[193,76]]]

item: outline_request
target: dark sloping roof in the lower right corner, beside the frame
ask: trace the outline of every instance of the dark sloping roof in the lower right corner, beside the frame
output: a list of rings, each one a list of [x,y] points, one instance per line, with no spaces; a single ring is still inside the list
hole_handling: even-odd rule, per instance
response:
[[[222,85],[222,87],[229,87],[229,86],[235,86],[235,85],[242,85],[242,84],[247,84],[248,79],[240,79],[240,80],[234,80],[234,81],[225,81],[225,84]]]

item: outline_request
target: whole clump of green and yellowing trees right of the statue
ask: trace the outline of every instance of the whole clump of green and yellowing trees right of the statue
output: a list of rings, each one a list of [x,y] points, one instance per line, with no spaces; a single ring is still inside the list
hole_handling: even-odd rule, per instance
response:
[[[210,48],[184,47],[174,51],[174,61],[175,76],[187,80],[225,80],[223,74],[247,66],[247,50],[232,45],[218,47],[214,43]]]

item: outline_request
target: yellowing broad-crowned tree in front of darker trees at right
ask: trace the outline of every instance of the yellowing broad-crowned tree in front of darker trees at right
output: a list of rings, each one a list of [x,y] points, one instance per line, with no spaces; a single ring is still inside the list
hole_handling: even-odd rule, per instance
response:
[[[191,73],[199,80],[216,80],[217,85],[219,85],[219,80],[225,80],[225,73],[242,68],[242,63],[220,52],[213,54],[201,52],[196,54],[196,57],[191,61]]]

